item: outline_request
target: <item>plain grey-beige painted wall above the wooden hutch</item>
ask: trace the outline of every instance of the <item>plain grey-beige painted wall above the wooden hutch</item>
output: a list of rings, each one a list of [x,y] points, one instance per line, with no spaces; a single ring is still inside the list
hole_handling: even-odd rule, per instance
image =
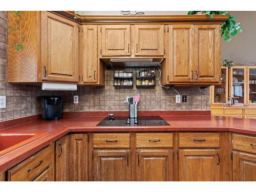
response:
[[[229,11],[236,22],[241,23],[242,33],[238,33],[227,42],[222,40],[222,59],[229,57],[237,63],[256,62],[256,11]]]

